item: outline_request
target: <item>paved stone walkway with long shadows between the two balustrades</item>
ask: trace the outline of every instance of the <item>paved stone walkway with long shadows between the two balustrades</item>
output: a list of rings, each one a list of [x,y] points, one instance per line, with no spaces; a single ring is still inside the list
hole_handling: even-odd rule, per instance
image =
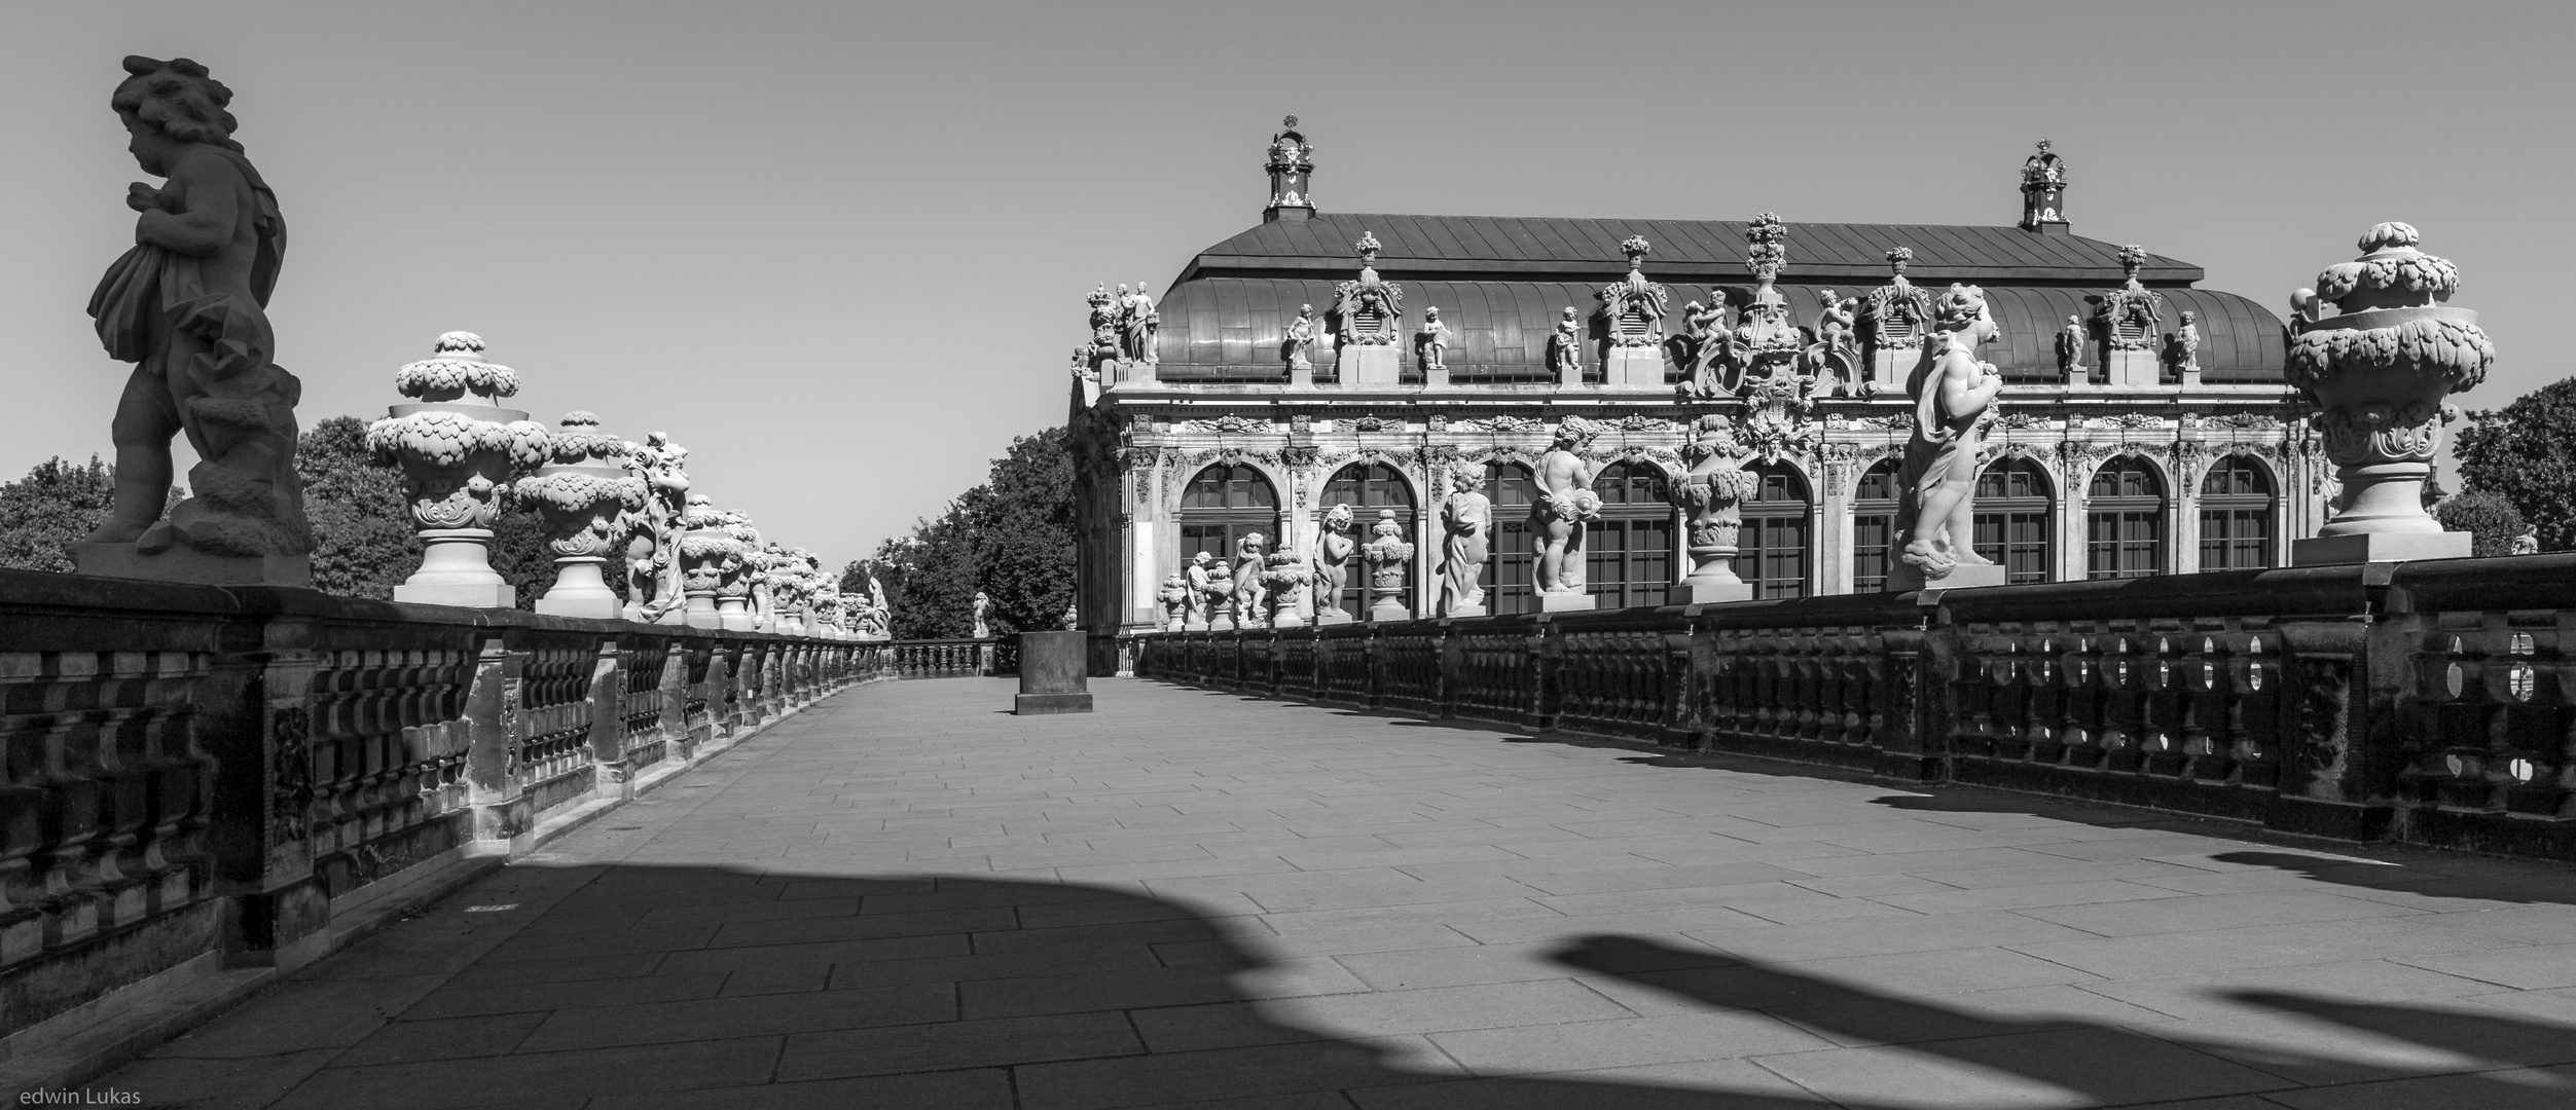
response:
[[[2568,868],[1097,695],[1015,719],[994,680],[842,693],[98,1087],[549,1110],[2576,1105]]]

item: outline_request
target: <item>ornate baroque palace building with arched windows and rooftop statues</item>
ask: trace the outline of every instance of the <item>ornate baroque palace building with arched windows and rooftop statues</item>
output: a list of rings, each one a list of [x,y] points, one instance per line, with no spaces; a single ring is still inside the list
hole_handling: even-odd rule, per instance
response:
[[[1950,283],[1981,286],[1999,330],[1976,546],[2012,582],[2285,564],[2334,497],[2282,322],[2192,288],[2190,263],[2074,234],[2048,142],[2002,227],[1324,214],[1293,116],[1267,175],[1262,221],[1159,301],[1092,294],[1072,446],[1095,634],[1164,626],[1200,551],[1314,551],[1334,505],[1363,543],[1391,513],[1401,597],[1435,616],[1461,461],[1494,505],[1486,610],[1533,610],[1530,464],[1569,417],[1592,430],[1600,608],[1687,600],[1672,489],[1710,415],[1754,474],[1734,559],[1754,597],[1883,590],[1906,373]],[[1352,559],[1342,610],[1368,613],[1365,579]]]

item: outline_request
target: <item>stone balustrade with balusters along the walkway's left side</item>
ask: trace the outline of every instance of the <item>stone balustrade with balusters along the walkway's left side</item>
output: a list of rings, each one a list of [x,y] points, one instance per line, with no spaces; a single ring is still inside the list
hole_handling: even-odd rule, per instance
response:
[[[884,644],[0,572],[0,1038],[526,852]],[[13,1038],[15,1040],[15,1038]]]

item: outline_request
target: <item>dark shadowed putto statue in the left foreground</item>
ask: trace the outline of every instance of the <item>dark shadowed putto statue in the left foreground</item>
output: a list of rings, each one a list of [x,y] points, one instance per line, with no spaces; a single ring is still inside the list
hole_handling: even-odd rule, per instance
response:
[[[116,402],[116,507],[72,556],[82,574],[175,582],[312,582],[296,479],[296,399],[268,327],[286,258],[278,196],[232,139],[232,90],[191,59],[126,57],[108,108],[134,165],[134,250],[98,281],[108,358],[134,363]],[[170,438],[188,433],[193,497],[170,500]]]

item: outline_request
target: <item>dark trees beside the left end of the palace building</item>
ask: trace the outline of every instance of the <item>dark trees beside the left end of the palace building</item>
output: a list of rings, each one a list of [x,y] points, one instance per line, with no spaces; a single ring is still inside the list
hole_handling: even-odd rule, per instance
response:
[[[994,636],[1061,628],[1074,603],[1074,464],[1064,428],[1023,435],[992,461],[987,482],[966,489],[912,536],[876,546],[842,567],[842,592],[886,587],[896,639],[966,636],[974,595],[992,597]]]

